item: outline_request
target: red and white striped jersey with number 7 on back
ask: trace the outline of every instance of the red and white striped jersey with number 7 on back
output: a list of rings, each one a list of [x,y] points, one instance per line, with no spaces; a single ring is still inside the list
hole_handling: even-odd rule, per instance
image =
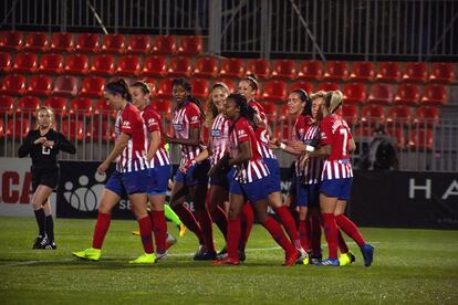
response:
[[[346,122],[332,114],[323,118],[321,126],[321,145],[331,145],[331,154],[323,166],[322,179],[342,179],[353,177],[348,154],[348,140],[353,138]]]

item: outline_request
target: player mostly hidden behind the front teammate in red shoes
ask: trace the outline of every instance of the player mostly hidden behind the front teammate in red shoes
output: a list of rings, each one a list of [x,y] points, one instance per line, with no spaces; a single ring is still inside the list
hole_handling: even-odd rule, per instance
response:
[[[258,81],[253,76],[247,76],[239,83],[239,93],[242,94],[247,101],[248,105],[256,111],[254,124],[256,124],[256,136],[259,141],[259,152],[266,161],[266,165],[269,168],[270,175],[269,178],[271,183],[269,183],[270,189],[268,189],[269,201],[273,211],[279,215],[284,229],[288,232],[288,235],[291,239],[291,242],[294,246],[302,252],[303,255],[306,255],[306,252],[302,249],[301,241],[299,239],[299,232],[295,227],[294,219],[291,215],[291,212],[285,206],[281,198],[281,187],[280,187],[280,166],[277,160],[275,155],[272,149],[269,147],[269,126],[267,122],[267,115],[263,107],[254,101],[256,92],[258,91]]]

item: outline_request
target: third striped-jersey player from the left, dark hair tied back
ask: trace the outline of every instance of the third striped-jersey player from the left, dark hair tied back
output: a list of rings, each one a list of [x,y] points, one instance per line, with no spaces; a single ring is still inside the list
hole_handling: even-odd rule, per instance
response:
[[[207,172],[210,164],[208,160],[200,164],[195,161],[195,158],[205,149],[201,143],[204,109],[200,102],[191,95],[191,85],[185,78],[177,78],[173,82],[173,95],[176,102],[171,119],[174,134],[171,137],[165,136],[165,141],[179,144],[181,148],[180,167],[187,168],[187,170],[186,172],[177,171],[171,189],[170,207],[199,240],[199,251],[194,259],[215,260],[212,221],[205,204],[208,185]],[[187,193],[192,198],[200,225],[192,212],[184,206]]]

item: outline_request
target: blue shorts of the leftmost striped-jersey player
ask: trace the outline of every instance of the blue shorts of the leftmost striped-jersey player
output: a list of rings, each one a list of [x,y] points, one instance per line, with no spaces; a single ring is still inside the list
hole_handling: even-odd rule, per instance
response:
[[[115,192],[118,196],[124,193],[146,193],[148,190],[149,169],[119,172],[115,170],[105,185],[105,189]]]

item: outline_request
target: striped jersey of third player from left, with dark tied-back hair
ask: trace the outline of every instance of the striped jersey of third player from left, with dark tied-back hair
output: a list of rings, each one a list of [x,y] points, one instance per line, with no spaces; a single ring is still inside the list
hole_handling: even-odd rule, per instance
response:
[[[199,107],[192,102],[186,102],[181,107],[176,107],[171,124],[177,139],[189,139],[191,128],[202,128]],[[201,133],[200,133],[201,134]],[[186,165],[188,160],[196,158],[202,150],[201,145],[183,145],[180,165]]]

